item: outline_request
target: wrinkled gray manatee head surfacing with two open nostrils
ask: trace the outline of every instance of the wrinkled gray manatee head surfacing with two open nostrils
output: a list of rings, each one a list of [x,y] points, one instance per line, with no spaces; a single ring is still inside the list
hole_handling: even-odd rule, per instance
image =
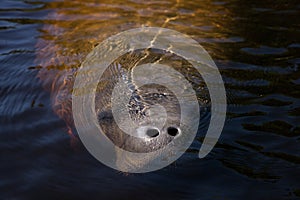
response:
[[[157,60],[163,64],[173,63],[172,68],[186,70],[187,75],[190,73],[189,64],[177,60],[172,55],[166,56],[165,52],[163,59],[161,54],[157,57],[147,57],[142,61],[141,57],[143,55],[133,56],[131,54],[125,59],[121,58],[112,63],[102,74],[95,94],[98,123],[103,134],[116,147],[115,162],[118,168],[122,169],[121,171],[134,171],[149,165],[149,163],[153,164],[154,160],[159,163],[161,160],[158,158],[167,160],[173,156],[171,155],[173,153],[181,155],[195,136],[191,138],[190,134],[195,132],[194,124],[199,123],[199,118],[193,117],[195,116],[193,113],[197,113],[199,110],[189,110],[189,104],[195,101],[198,108],[198,100],[194,93],[190,95],[190,102],[188,102],[190,98],[188,95],[184,98],[188,101],[182,104],[182,99],[178,98],[178,94],[175,94],[170,87],[155,83],[155,80],[150,84],[145,81],[146,84],[138,85],[132,78],[137,71],[138,67],[136,66],[144,63],[153,63]],[[160,74],[159,71],[157,73]],[[188,90],[186,84],[180,85],[176,82],[175,75],[173,74],[173,77],[171,76],[167,81],[169,80],[171,85],[177,85],[182,90]],[[145,77],[147,77],[147,73]],[[158,79],[164,78],[159,77]],[[143,80],[140,82],[143,83]],[[194,92],[193,87],[191,90]],[[182,94],[189,93],[182,92]],[[181,113],[182,106],[189,110],[184,113],[184,116]],[[182,121],[183,118],[185,121]],[[196,126],[197,130],[198,125]],[[168,145],[173,146],[172,150],[175,151],[164,151]],[[182,151],[180,149],[181,153],[178,153],[180,151],[177,151],[177,147],[180,146],[182,146]],[[120,149],[136,154],[128,156]],[[161,154],[165,155],[160,157]],[[137,157],[139,158],[137,159]]]

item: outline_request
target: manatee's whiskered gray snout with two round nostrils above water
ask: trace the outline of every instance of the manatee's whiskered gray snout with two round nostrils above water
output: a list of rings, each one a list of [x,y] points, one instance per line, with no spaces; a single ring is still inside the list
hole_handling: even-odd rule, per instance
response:
[[[109,111],[99,114],[98,122],[103,134],[114,143],[116,165],[123,171],[138,170],[160,162],[157,159],[164,147],[172,145],[173,141],[182,136],[179,126],[168,121],[163,127],[143,124],[133,129],[134,133],[126,133],[115,123]],[[123,150],[133,154],[124,153]]]

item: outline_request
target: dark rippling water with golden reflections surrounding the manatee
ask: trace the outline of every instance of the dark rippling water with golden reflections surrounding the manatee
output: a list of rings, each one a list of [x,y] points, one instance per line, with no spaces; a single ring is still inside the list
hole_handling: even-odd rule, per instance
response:
[[[0,199],[300,198],[299,10],[292,0],[1,1]],[[81,144],[70,146],[37,78],[37,43],[48,36],[58,48],[76,49],[66,44],[93,37],[76,29],[87,19],[87,26],[102,27],[100,41],[132,27],[164,26],[207,49],[229,104],[221,138],[206,158],[197,157],[201,131],[174,164],[139,175],[102,165]],[[72,34],[59,43],[46,25]],[[78,44],[79,54],[88,51]]]

